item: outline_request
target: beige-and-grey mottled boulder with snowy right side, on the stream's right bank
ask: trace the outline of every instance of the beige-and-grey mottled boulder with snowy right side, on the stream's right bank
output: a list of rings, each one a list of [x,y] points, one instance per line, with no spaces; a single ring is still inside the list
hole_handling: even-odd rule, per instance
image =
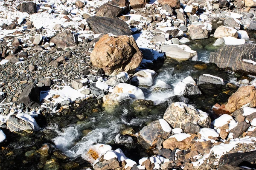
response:
[[[172,103],[166,109],[163,119],[173,128],[180,127],[183,130],[189,122],[204,128],[209,128],[211,125],[211,119],[207,113],[182,102]]]

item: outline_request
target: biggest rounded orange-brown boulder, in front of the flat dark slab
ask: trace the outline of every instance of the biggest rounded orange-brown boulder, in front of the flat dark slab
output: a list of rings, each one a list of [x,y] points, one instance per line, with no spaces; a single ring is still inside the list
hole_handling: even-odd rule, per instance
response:
[[[90,55],[92,64],[111,76],[122,71],[131,73],[140,65],[142,58],[134,38],[128,36],[104,35]]]

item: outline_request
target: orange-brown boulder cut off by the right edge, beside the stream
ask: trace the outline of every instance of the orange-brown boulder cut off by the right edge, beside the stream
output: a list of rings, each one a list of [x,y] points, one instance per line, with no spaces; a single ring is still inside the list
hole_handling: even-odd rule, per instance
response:
[[[231,113],[248,104],[249,107],[256,107],[256,88],[255,86],[242,86],[236,93],[232,94],[226,104],[226,109]]]

